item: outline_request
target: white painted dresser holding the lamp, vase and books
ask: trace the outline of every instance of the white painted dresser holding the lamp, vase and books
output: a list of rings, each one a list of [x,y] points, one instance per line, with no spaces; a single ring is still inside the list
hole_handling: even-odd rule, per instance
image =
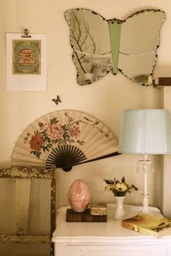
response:
[[[60,208],[52,238],[55,256],[171,256],[171,236],[156,239],[122,228],[120,220],[112,218],[114,207],[107,207],[107,223],[67,223],[67,207]],[[125,205],[126,218],[139,210]],[[160,214],[157,208],[151,210]]]

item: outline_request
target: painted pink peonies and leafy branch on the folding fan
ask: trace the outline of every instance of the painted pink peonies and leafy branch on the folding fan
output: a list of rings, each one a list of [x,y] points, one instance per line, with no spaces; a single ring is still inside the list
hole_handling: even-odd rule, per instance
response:
[[[99,128],[98,121],[93,122],[86,116],[83,120],[74,120],[67,112],[64,112],[64,115],[67,117],[67,123],[61,124],[57,117],[53,117],[49,120],[49,123],[38,122],[39,128],[33,134],[28,133],[25,136],[24,141],[29,143],[30,154],[40,158],[42,152],[49,152],[50,149],[54,149],[57,146],[64,144],[83,145],[85,141],[79,139],[81,135],[80,123],[98,129],[100,133],[104,133],[105,137],[109,136],[108,133]]]

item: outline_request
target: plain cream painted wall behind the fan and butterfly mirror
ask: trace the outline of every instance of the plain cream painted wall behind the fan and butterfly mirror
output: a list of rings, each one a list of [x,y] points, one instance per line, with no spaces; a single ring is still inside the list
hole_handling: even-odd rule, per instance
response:
[[[70,31],[64,20],[64,11],[73,7],[85,7],[99,12],[106,19],[117,17],[124,19],[132,12],[143,8],[160,8],[166,12],[167,19],[162,26],[161,45],[158,50],[159,59],[154,75],[157,77],[170,75],[170,24],[171,4],[163,1],[132,0],[1,0],[0,1],[0,168],[11,164],[12,149],[22,131],[41,115],[55,110],[80,110],[88,112],[105,123],[114,135],[119,136],[120,115],[122,110],[135,108],[171,109],[169,102],[170,88],[163,94],[163,89],[152,86],[138,86],[122,74],[108,74],[105,78],[91,86],[78,86],[76,70],[72,63],[70,48]],[[28,28],[30,33],[47,35],[47,90],[39,92],[6,91],[6,46],[5,33],[22,33]],[[147,38],[147,40],[149,40]],[[164,89],[165,90],[165,89]],[[55,96],[62,99],[62,104],[55,106],[51,99]],[[163,102],[164,101],[164,102]],[[137,197],[127,198],[126,202],[140,204],[143,192],[143,174],[136,173],[136,162],[141,156],[120,155],[106,160],[91,162],[72,168],[70,173],[57,170],[57,207],[67,205],[67,191],[76,178],[83,178],[91,189],[91,200],[113,202],[112,194],[104,192],[103,178],[122,175],[135,183],[140,189]],[[149,173],[150,204],[162,209],[162,157],[154,157],[156,173]],[[165,162],[165,161],[164,161]],[[170,168],[171,159],[167,157]],[[168,168],[168,172],[169,172]],[[165,182],[164,169],[164,182]],[[170,175],[168,176],[170,178]],[[167,183],[169,180],[167,179]],[[164,209],[171,217],[170,186],[164,189]],[[3,199],[0,186],[0,199]],[[167,194],[167,195],[166,195]],[[5,203],[4,203],[5,204]],[[2,212],[0,212],[2,214]],[[8,214],[5,216],[8,221]],[[38,222],[37,222],[38,223]],[[40,226],[40,223],[37,224]]]

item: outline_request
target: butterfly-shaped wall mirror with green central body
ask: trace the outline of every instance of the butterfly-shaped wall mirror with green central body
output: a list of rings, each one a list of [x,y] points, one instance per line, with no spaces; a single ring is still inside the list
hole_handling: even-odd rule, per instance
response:
[[[64,13],[70,26],[72,59],[80,85],[93,83],[118,70],[141,85],[153,84],[157,48],[165,13],[143,9],[125,20],[105,20],[89,9],[70,9]]]

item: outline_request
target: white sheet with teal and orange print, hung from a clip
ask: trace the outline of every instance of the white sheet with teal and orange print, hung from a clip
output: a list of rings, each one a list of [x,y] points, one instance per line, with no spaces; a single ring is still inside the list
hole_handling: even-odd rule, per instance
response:
[[[46,35],[6,36],[7,91],[46,91]]]

